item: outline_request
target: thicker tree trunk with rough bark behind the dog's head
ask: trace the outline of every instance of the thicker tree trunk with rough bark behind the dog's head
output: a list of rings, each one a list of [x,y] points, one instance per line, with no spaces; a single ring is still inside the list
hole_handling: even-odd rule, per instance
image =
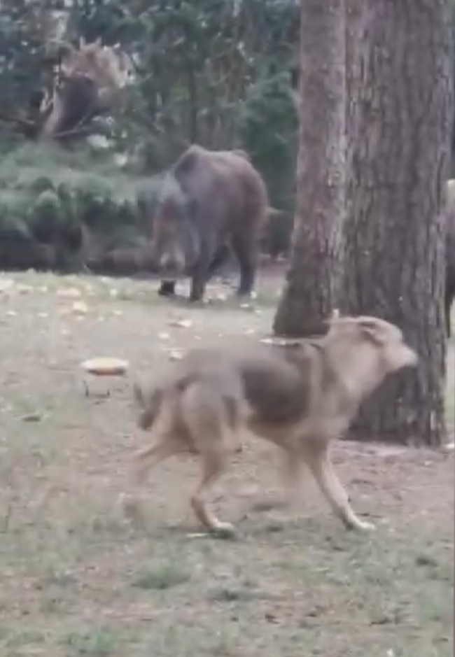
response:
[[[444,438],[450,0],[347,0],[350,164],[342,311],[398,324],[420,356],[365,404],[358,437]]]

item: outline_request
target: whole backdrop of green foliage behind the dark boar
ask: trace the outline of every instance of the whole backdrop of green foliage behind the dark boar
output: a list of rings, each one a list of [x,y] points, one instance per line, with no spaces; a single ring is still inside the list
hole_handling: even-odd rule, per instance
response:
[[[272,204],[292,213],[297,122],[288,71],[297,0],[5,0],[0,120],[3,109],[30,118],[34,94],[50,89],[55,10],[69,18],[64,42],[118,43],[134,59],[136,80],[112,117],[92,122],[109,139],[106,152],[34,146],[0,124],[0,229],[13,225],[47,242],[81,223],[131,236],[144,219],[134,177],[157,174],[195,141],[246,148]],[[116,153],[127,155],[123,172],[113,164]],[[288,222],[274,223],[278,242],[287,232]]]

